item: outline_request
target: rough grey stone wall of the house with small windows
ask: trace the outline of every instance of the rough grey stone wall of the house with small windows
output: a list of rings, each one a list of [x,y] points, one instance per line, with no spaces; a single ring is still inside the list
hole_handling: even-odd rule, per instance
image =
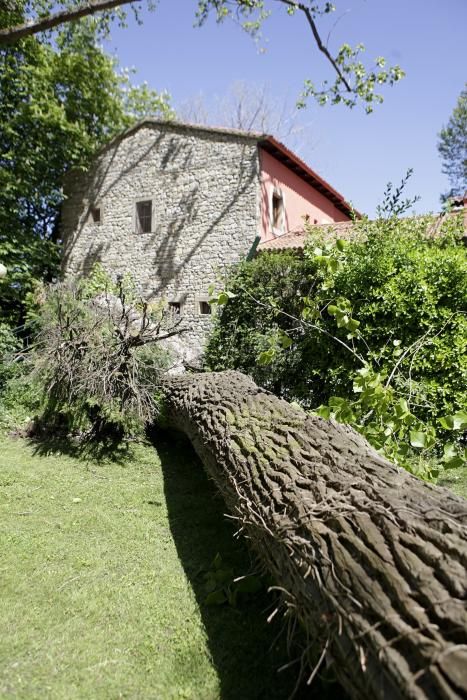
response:
[[[63,272],[101,262],[131,272],[145,297],[181,305],[199,352],[212,319],[200,301],[226,268],[243,259],[259,229],[257,141],[182,125],[144,124],[105,149],[88,173],[66,183]],[[151,200],[151,233],[136,233],[136,202]],[[101,221],[92,221],[99,207]]]

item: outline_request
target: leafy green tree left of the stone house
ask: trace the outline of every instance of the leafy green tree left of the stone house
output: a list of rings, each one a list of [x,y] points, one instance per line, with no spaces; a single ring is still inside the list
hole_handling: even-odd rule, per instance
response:
[[[64,174],[86,168],[133,121],[172,114],[166,94],[131,85],[99,47],[99,31],[88,19],[67,25],[53,44],[30,36],[0,47],[0,260],[8,268],[1,317],[15,324],[34,280],[50,278],[58,263]]]

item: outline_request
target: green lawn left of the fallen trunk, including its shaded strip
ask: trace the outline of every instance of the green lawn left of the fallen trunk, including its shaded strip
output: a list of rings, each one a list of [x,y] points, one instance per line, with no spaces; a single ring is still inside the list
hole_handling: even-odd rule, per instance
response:
[[[203,604],[217,551],[250,562],[175,438],[106,463],[0,438],[0,494],[0,697],[288,697],[270,596]]]

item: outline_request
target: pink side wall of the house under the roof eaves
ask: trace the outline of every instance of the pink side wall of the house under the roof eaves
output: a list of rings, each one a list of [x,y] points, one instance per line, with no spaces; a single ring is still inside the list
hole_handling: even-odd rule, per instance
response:
[[[291,231],[302,230],[304,216],[309,217],[311,224],[350,219],[350,216],[338,209],[325,194],[319,192],[261,146],[259,157],[262,241],[269,241]],[[278,226],[273,225],[273,196],[282,200],[283,211]]]

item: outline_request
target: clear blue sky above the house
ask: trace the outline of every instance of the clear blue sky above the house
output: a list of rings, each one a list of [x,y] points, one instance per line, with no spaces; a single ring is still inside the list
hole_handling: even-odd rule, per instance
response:
[[[384,90],[384,103],[363,108],[319,107],[310,102],[298,117],[298,154],[358,209],[374,214],[388,181],[397,184],[411,167],[407,194],[420,195],[418,212],[439,209],[448,188],[436,149],[467,81],[467,0],[334,0],[340,18],[330,47],[366,46],[368,59],[384,56],[407,77]],[[196,0],[160,0],[115,29],[109,47],[136,82],[167,89],[177,105],[202,93],[207,102],[236,81],[266,86],[275,100],[294,103],[305,78],[329,77],[301,17],[288,17],[274,1],[258,46],[233,22],[194,28]],[[327,35],[327,31],[324,32]],[[109,48],[108,47],[108,48]]]

